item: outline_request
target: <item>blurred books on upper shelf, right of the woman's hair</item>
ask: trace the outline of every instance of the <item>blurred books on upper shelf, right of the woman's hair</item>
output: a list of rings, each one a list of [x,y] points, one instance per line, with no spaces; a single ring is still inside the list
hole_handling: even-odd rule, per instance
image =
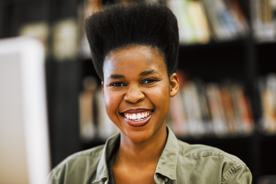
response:
[[[167,0],[178,18],[181,44],[205,44],[243,38],[276,41],[276,0],[250,0],[246,17],[241,0]],[[248,20],[251,19],[251,29]]]

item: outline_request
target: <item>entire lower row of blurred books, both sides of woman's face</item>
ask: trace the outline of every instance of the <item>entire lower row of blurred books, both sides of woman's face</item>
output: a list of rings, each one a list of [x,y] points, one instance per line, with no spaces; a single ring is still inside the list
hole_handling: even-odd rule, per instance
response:
[[[241,82],[180,80],[179,93],[171,98],[167,125],[178,137],[248,136],[261,127],[276,133],[276,74],[258,81],[262,112],[254,123],[252,106]],[[102,91],[93,76],[83,82],[79,95],[80,137],[83,141],[107,139],[119,129],[105,112]]]

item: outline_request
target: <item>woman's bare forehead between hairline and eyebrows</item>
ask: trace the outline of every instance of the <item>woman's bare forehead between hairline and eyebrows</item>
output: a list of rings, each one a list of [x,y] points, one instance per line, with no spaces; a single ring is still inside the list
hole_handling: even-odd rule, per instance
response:
[[[110,52],[105,57],[103,72],[105,78],[105,75],[123,72],[124,69],[138,72],[140,68],[153,67],[159,67],[159,70],[165,67],[167,71],[163,53],[151,46],[134,45]]]

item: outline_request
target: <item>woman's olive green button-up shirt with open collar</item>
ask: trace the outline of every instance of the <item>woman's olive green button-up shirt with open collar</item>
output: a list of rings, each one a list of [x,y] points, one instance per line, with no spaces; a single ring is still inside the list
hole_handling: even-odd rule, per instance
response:
[[[105,145],[75,153],[49,174],[52,184],[104,184],[109,182],[107,160],[120,133]],[[139,174],[139,173],[137,173]],[[157,184],[247,184],[252,175],[248,167],[234,155],[200,144],[188,144],[176,138],[168,128],[166,146],[153,176]]]

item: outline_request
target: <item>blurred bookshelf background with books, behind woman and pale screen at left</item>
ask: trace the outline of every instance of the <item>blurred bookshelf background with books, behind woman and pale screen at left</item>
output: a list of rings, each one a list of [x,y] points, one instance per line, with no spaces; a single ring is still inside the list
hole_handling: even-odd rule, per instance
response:
[[[183,141],[240,157],[253,183],[275,183],[276,0],[155,1],[179,27],[181,89],[168,125]],[[0,39],[29,36],[44,48],[51,168],[118,132],[83,30],[87,15],[115,2],[132,1],[0,0]]]

